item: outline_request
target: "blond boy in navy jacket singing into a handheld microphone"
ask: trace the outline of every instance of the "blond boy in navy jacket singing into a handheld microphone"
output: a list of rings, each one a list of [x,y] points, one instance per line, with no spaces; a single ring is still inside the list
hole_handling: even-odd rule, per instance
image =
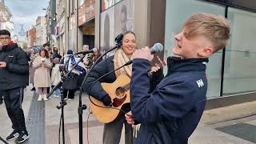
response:
[[[149,92],[153,55],[148,47],[134,53],[131,78],[130,124],[141,123],[136,144],[187,144],[206,106],[206,63],[230,38],[225,18],[213,14],[193,14],[175,35],[173,57],[158,87]]]

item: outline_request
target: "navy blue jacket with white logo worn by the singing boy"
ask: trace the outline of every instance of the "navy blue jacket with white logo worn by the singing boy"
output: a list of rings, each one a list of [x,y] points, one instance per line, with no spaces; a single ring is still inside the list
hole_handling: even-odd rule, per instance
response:
[[[133,60],[130,105],[141,123],[137,144],[186,144],[206,105],[207,58],[167,59],[168,72],[150,93],[150,62]]]

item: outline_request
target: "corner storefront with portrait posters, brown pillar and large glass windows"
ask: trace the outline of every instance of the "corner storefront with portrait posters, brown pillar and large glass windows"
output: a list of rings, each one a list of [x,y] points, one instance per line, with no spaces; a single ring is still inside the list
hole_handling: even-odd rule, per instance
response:
[[[126,17],[122,16],[123,5],[126,6],[123,14]],[[162,42],[165,49],[159,55],[165,59],[171,55],[174,35],[180,32],[183,22],[191,14],[210,13],[226,17],[231,26],[230,44],[210,57],[207,64],[207,98],[224,102],[227,97],[238,96],[238,103],[256,100],[254,0],[102,0],[100,7],[101,52],[114,46],[115,36],[122,33],[122,26],[125,26],[126,30],[133,30],[137,35],[138,47]],[[126,25],[122,24],[123,20],[126,20]]]

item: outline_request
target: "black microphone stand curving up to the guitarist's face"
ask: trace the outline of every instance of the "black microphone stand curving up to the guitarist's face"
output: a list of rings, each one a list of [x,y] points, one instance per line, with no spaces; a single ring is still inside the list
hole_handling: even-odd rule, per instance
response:
[[[82,144],[82,110],[86,110],[86,105],[82,105],[82,87],[86,82],[86,79],[88,78],[88,75],[90,74],[90,71],[94,69],[94,66],[98,63],[99,59],[101,59],[104,55],[109,53],[110,51],[117,49],[118,47],[122,46],[122,44],[116,44],[114,48],[107,50],[104,54],[102,54],[92,66],[90,66],[90,70],[86,74],[85,78],[82,80],[82,84],[80,86],[80,93],[79,93],[79,103],[78,103],[78,118],[79,118],[79,144]]]

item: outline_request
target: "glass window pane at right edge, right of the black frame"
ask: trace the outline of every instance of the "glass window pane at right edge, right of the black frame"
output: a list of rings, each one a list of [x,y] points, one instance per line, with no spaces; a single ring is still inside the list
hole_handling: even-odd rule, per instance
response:
[[[229,8],[230,45],[226,47],[223,94],[256,90],[256,14]]]

